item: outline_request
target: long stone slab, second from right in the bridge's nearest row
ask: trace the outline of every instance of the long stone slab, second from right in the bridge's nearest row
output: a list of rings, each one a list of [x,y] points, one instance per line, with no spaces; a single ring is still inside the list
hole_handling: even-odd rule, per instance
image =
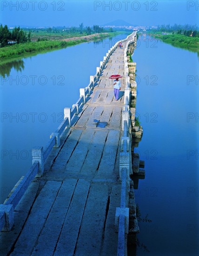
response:
[[[82,219],[75,256],[99,255],[102,245],[110,189],[105,184],[92,184]]]

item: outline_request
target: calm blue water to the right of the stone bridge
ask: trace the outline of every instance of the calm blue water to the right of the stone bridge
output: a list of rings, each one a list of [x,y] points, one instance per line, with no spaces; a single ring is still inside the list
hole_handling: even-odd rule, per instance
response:
[[[148,214],[152,222],[139,222],[136,255],[199,255],[197,53],[139,40],[133,61],[144,134],[135,152],[146,177],[135,194],[142,218]]]

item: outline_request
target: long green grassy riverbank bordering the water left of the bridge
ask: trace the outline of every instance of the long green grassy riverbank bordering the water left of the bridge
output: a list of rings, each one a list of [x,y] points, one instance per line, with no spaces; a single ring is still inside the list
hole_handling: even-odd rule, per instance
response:
[[[73,46],[87,41],[101,40],[106,37],[116,36],[123,34],[123,31],[91,34],[86,36],[71,37],[62,40],[46,40],[39,42],[29,42],[24,44],[13,45],[9,47],[0,48],[0,63],[5,63],[16,59],[17,57],[25,57],[31,54],[38,54],[42,52],[48,52],[51,50],[57,50],[60,48]]]

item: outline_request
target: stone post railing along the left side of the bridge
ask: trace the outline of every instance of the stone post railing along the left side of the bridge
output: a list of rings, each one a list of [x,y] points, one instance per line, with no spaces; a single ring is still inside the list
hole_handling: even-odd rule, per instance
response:
[[[74,115],[79,114],[79,109],[82,104],[86,103],[86,96],[90,95],[95,83],[99,80],[100,74],[113,51],[118,47],[119,41],[108,50],[103,61],[100,61],[97,67],[96,74],[90,76],[90,83],[86,88],[80,88],[80,98],[73,104],[72,108],[64,108],[64,120],[54,133],[50,135],[50,140],[46,143],[45,147],[35,147],[32,149],[32,167],[28,170],[27,174],[20,179],[17,187],[12,190],[12,194],[7,201],[0,204],[0,231],[10,231],[14,223],[14,209],[20,199],[25,194],[28,186],[35,177],[41,177],[44,172],[44,164],[51,154],[53,148],[60,147],[60,137],[63,135],[66,128],[71,127],[71,120]]]

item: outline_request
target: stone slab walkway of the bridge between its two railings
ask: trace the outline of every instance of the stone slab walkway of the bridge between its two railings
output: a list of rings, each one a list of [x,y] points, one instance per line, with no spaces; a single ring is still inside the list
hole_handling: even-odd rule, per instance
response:
[[[120,206],[125,78],[116,101],[108,77],[125,75],[123,54],[118,47],[110,56],[76,121],[62,136],[59,154],[22,197],[13,230],[1,235],[2,255],[117,255],[114,219]],[[97,127],[95,119],[107,122],[106,127]]]

